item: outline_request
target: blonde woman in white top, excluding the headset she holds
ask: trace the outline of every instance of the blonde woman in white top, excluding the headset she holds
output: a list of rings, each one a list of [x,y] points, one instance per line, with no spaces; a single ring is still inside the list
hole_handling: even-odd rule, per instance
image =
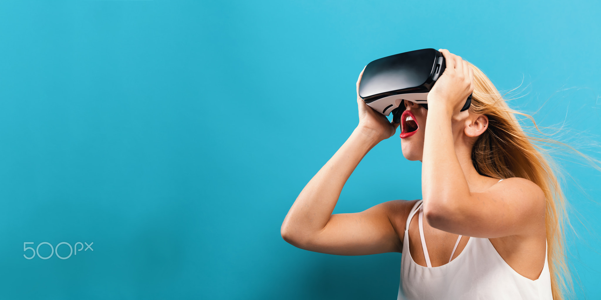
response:
[[[447,68],[429,108],[405,101],[401,116],[403,156],[423,163],[424,199],[332,215],[359,161],[398,127],[357,97],[359,125],[299,194],[282,238],[329,254],[404,253],[398,299],[563,299],[564,197],[531,143],[545,139],[526,136],[484,73],[440,51]]]

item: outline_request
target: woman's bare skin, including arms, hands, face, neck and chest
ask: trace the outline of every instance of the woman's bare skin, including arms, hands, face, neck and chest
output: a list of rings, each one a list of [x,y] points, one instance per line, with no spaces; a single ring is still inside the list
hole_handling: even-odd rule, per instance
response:
[[[424,236],[432,266],[448,263],[458,235],[463,235],[453,259],[469,236],[489,238],[501,257],[520,275],[535,280],[545,263],[545,196],[523,178],[498,179],[478,174],[472,145],[488,125],[485,115],[459,110],[474,89],[472,69],[446,49],[447,68],[428,95],[429,109],[406,101],[418,123],[413,136],[401,139],[403,156],[422,162]],[[361,82],[357,81],[357,88]],[[334,214],[347,179],[362,158],[398,124],[371,109],[357,95],[359,124],[349,139],[308,182],[288,211],[282,238],[310,251],[338,255],[401,252],[404,227],[416,200],[380,203],[354,214]],[[409,225],[409,251],[426,266],[418,215]]]

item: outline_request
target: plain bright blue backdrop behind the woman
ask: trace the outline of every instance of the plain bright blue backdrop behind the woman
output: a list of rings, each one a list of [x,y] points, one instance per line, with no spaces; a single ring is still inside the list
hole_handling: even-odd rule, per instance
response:
[[[0,298],[395,299],[401,254],[312,253],[279,234],[357,124],[362,67],[450,49],[597,155],[600,13],[599,1],[3,1]],[[420,198],[421,163],[397,136],[335,212]],[[595,299],[601,173],[564,158],[570,262],[579,297]],[[23,242],[63,241],[94,251],[23,257]]]

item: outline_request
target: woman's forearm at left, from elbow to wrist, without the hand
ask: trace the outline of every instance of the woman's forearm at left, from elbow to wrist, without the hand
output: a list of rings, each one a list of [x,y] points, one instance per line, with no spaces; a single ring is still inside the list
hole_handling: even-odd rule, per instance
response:
[[[282,236],[305,240],[319,233],[328,224],[347,179],[378,142],[369,131],[356,128],[296,198],[282,223]]]

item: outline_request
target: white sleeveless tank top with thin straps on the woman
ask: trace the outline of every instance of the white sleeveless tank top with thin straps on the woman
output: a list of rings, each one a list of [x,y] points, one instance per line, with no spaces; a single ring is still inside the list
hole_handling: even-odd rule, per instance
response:
[[[428,266],[415,263],[409,252],[409,223],[413,215],[421,211],[421,204],[422,200],[415,203],[407,218],[401,257],[401,283],[397,300],[553,300],[546,251],[545,266],[537,280],[523,277],[507,265],[487,238],[470,237],[462,253],[454,260],[442,266],[431,267],[430,256],[423,238],[421,214],[418,217],[418,226]],[[455,248],[459,244],[459,239]]]

